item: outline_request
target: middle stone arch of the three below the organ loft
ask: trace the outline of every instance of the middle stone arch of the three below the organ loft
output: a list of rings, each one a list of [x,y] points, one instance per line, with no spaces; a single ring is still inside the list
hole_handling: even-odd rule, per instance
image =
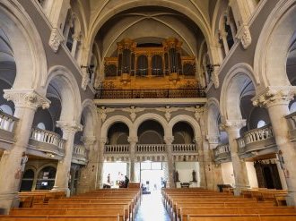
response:
[[[170,136],[170,132],[168,130],[168,123],[167,121],[161,116],[161,115],[157,115],[157,114],[144,114],[139,116],[138,118],[136,118],[135,123],[134,123],[134,131],[132,131],[133,133],[130,133],[131,136],[137,136],[137,132],[139,129],[139,126],[144,123],[145,121],[148,120],[153,120],[156,121],[157,123],[160,123],[164,132],[164,136]]]

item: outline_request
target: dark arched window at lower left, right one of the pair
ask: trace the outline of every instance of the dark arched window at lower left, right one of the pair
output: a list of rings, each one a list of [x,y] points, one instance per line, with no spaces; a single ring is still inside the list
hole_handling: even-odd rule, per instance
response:
[[[51,190],[55,184],[56,173],[57,169],[55,167],[44,167],[38,174],[36,190]]]

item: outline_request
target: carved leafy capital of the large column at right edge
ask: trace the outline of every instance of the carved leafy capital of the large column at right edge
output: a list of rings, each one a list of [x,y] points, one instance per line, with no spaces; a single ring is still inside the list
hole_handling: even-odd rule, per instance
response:
[[[296,94],[295,86],[267,87],[257,96],[252,98],[254,106],[288,105]]]

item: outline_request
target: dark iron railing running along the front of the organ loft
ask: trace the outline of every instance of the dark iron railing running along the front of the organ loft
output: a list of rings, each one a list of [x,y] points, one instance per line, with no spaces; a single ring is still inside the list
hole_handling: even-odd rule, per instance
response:
[[[95,98],[205,98],[205,89],[98,89]]]

